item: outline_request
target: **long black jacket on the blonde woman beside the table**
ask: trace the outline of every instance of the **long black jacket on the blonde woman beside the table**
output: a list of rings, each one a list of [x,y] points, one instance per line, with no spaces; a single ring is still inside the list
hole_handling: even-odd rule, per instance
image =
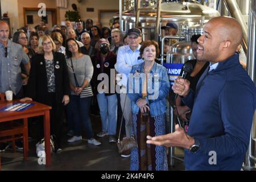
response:
[[[55,65],[56,102],[60,104],[63,96],[70,93],[67,63],[64,54],[59,52],[53,53],[53,60]],[[59,69],[56,68],[56,65],[59,65]],[[44,104],[47,93],[46,63],[44,55],[38,54],[31,59],[30,78],[28,80],[26,96]]]

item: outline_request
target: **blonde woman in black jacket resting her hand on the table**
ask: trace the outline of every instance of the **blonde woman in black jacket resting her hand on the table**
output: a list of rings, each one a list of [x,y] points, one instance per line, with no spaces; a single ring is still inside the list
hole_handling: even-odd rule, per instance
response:
[[[69,102],[70,89],[65,56],[55,51],[56,46],[52,38],[49,35],[41,36],[38,54],[31,60],[27,97],[21,101],[34,100],[52,107],[51,134],[56,137],[55,152],[57,152],[61,150],[64,106]],[[39,135],[43,137],[43,130],[40,130]]]

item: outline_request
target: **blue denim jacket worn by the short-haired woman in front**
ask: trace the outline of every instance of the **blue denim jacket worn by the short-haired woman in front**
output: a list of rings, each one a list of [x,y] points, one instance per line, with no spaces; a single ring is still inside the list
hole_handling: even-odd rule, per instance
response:
[[[134,114],[139,113],[139,107],[136,103],[142,99],[142,78],[139,77],[142,77],[142,73],[144,73],[143,68],[144,62],[134,65],[127,81],[127,96],[131,100],[131,110]],[[158,63],[154,64],[150,71],[150,75],[151,77],[148,77],[148,83],[152,80],[152,84],[147,85],[146,100],[148,106],[150,106],[151,117],[156,117],[166,113],[166,97],[170,90],[170,82],[166,68]],[[136,80],[139,80],[138,85],[135,84]]]

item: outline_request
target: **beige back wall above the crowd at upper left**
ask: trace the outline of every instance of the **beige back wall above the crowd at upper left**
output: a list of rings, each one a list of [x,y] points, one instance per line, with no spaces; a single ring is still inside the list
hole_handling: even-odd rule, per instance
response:
[[[47,8],[57,9],[57,23],[60,24],[65,20],[65,12],[72,10],[72,3],[75,3],[81,14],[82,20],[88,18],[93,19],[93,22],[98,21],[98,10],[118,10],[119,0],[68,0],[68,8],[57,8],[56,0],[1,0],[2,14],[8,11],[11,27],[14,31],[24,26],[23,7],[38,7],[40,2],[46,3]],[[94,12],[86,12],[87,7],[93,7]],[[104,20],[106,21],[106,20]]]

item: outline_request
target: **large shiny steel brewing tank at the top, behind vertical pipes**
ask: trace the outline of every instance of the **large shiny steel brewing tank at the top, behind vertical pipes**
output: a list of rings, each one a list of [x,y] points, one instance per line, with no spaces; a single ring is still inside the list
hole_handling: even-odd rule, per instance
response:
[[[156,26],[156,5],[148,6],[147,10],[140,10],[139,28],[142,29],[143,40],[154,39]],[[122,31],[127,32],[135,27],[135,10],[127,10],[122,13]],[[175,22],[179,26],[178,34],[181,35],[185,27],[201,24],[202,16],[205,22],[209,19],[220,16],[217,10],[201,5],[198,2],[168,2],[161,4],[160,27],[167,22]]]

